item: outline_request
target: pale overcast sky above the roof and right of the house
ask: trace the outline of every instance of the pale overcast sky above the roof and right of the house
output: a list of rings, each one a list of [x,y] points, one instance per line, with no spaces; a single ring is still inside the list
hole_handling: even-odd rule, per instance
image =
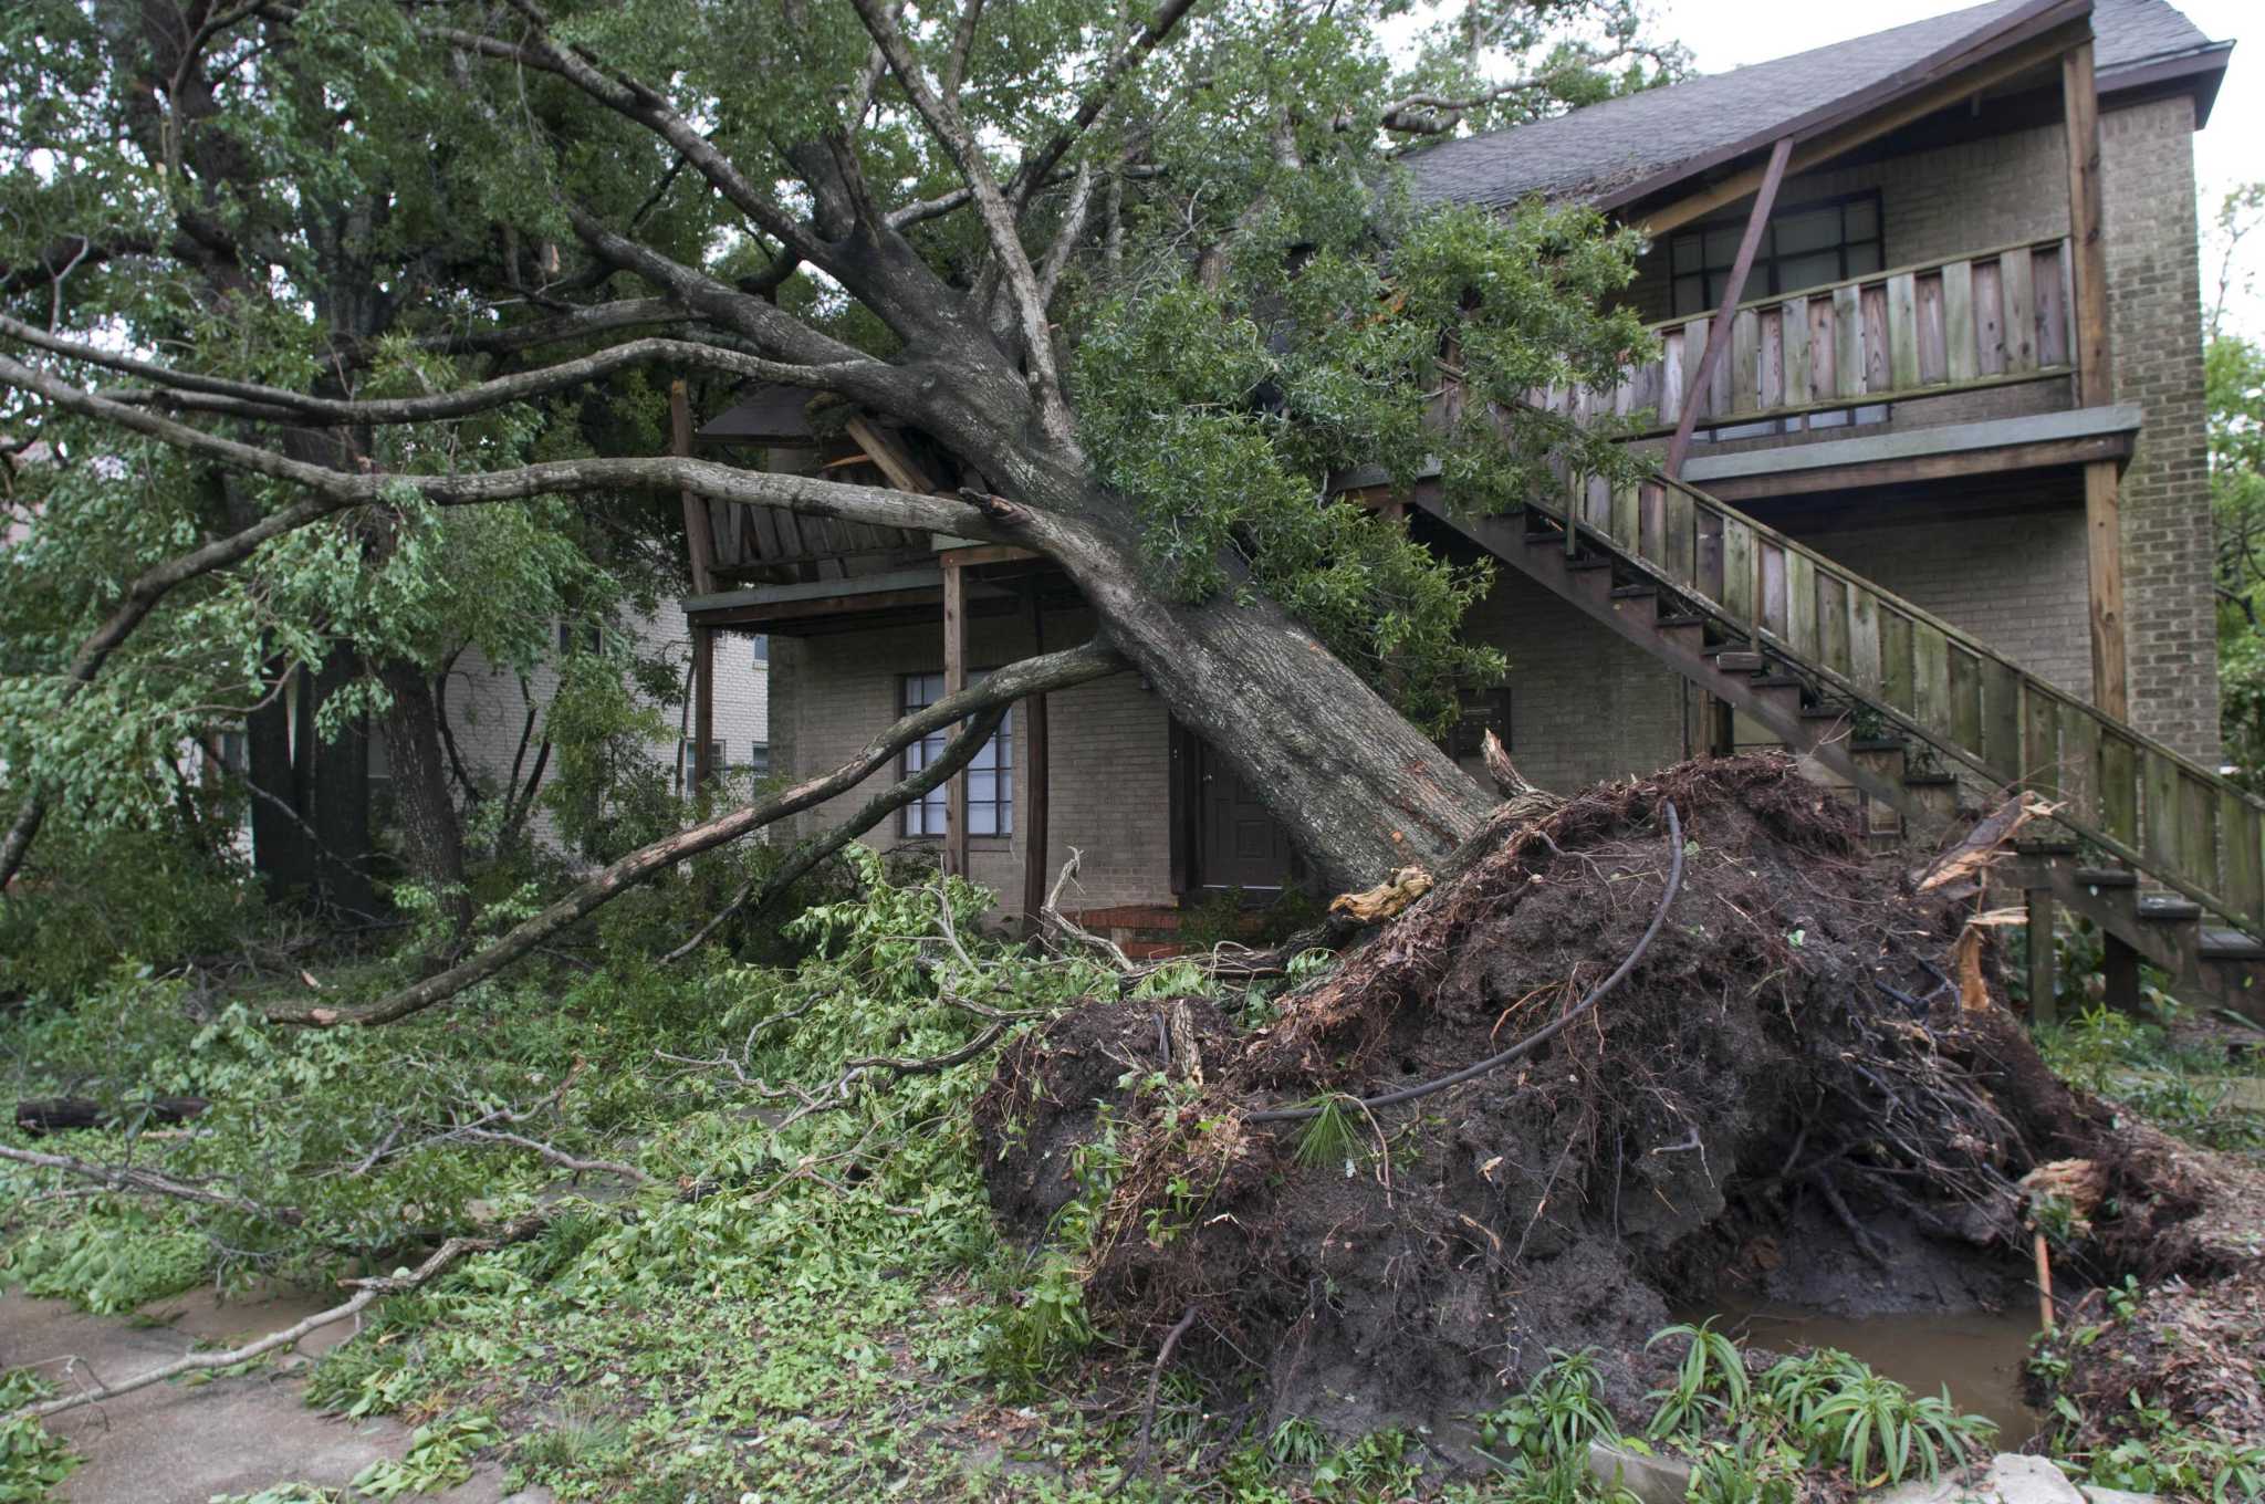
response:
[[[1724,72],[1787,52],[1900,27],[1966,9],[1973,0],[1653,0],[1660,32],[1692,50],[1701,72]],[[2211,109],[2211,125],[2195,136],[2197,206],[2208,224],[2226,188],[2265,179],[2265,5],[2258,0],[2170,0],[2211,41],[2240,41],[2226,84]],[[2265,231],[2251,236],[2265,242]],[[2251,297],[2233,304],[2233,322],[2265,335],[2265,245],[2245,247],[2242,272],[2256,276]],[[2202,297],[2217,290],[2217,254],[2204,242]]]

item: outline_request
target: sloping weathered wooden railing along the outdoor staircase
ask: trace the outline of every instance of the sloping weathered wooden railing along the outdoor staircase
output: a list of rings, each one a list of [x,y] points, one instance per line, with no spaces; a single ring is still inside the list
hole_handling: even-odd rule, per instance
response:
[[[1576,532],[2168,888],[2265,938],[2265,804],[1694,487],[1570,487]],[[1565,503],[1536,505],[1565,521]]]

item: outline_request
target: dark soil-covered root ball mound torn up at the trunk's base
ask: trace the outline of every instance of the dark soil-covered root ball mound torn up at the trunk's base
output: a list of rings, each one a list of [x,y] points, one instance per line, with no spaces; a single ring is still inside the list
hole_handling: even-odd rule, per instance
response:
[[[1681,890],[1576,1012],[1660,913],[1669,802]],[[992,1198],[1028,1237],[1089,1232],[1096,1318],[1153,1350],[1194,1311],[1178,1357],[1350,1429],[1445,1422],[1588,1345],[1633,1416],[1644,1339],[1728,1284],[2027,1298],[2014,1182],[2104,1153],[2106,1117],[1961,1003],[1959,901],[1914,895],[1787,759],[1601,786],[1479,849],[1259,1028],[1112,999],[1010,1051],[978,1108]],[[1255,1121],[1431,1083],[1567,1012],[1475,1080]]]

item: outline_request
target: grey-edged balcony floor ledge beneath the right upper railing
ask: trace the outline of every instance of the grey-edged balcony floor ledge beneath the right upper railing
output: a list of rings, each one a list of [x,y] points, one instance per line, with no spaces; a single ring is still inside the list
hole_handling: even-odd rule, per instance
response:
[[[1980,424],[1903,428],[1851,439],[1701,455],[1683,464],[1683,478],[1721,501],[1740,503],[2102,460],[2125,464],[2138,439],[2140,421],[2143,412],[2136,403],[2116,403]]]

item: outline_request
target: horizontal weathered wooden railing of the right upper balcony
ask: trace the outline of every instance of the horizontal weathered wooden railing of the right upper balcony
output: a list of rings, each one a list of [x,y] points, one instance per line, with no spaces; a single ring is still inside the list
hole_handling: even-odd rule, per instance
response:
[[[1730,313],[1730,347],[1692,390],[1712,315],[1651,324],[1660,356],[1617,387],[1556,387],[1529,401],[1581,419],[1651,415],[1665,433],[1699,403],[1699,421],[1744,424],[1937,392],[2066,376],[2068,242],[2038,240],[1841,283],[1783,292]]]

